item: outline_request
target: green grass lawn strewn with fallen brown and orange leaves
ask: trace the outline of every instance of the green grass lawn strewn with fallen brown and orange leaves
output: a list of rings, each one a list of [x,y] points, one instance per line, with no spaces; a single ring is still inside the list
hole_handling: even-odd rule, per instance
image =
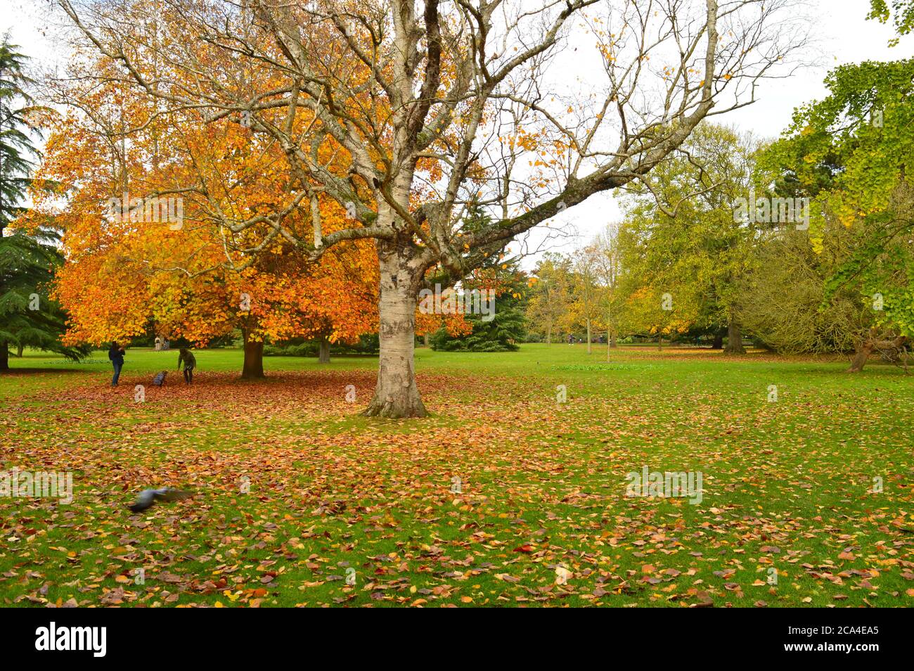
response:
[[[356,414],[372,357],[268,357],[242,382],[238,350],[200,350],[193,387],[154,388],[176,359],[128,350],[117,389],[103,352],[0,375],[2,468],[73,478],[69,505],[0,497],[4,604],[914,605],[898,368],[420,349],[432,415],[387,421]],[[700,503],[626,496],[644,466],[700,472]],[[196,495],[126,509],[162,485]]]

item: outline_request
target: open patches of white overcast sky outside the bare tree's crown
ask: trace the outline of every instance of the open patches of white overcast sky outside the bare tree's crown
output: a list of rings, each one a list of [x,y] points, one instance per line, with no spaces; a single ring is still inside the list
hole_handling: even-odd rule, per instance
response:
[[[895,60],[914,55],[914,35],[901,39],[898,47],[888,48],[893,37],[890,26],[866,21],[867,0],[809,0],[814,21],[816,64],[804,68],[786,80],[767,81],[759,100],[737,112],[716,118],[717,122],[752,131],[759,137],[776,137],[791,120],[792,111],[805,101],[824,95],[825,73],[842,63],[863,60]],[[31,58],[46,64],[58,61],[61,48],[55,40],[55,28],[49,21],[52,0],[0,0],[0,34],[9,31],[14,43]],[[575,208],[569,208],[557,222],[576,230],[571,245],[584,243],[606,223],[618,218],[619,208],[611,194],[597,195]],[[538,235],[535,236],[538,238]],[[529,267],[532,260],[527,260]]]

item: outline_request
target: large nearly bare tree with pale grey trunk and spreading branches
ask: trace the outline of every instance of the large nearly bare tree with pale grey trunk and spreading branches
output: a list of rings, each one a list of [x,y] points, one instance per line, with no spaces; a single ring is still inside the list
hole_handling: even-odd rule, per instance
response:
[[[458,282],[515,236],[647,175],[703,119],[752,101],[804,42],[791,0],[58,2],[163,113],[241,117],[282,147],[296,177],[282,208],[218,225],[266,222],[313,258],[376,240],[366,414],[389,417],[425,414],[413,372],[423,284]],[[581,59],[589,67],[567,77]],[[345,170],[321,159],[325,144]],[[315,192],[351,226],[286,226]],[[470,202],[490,226],[462,229]]]

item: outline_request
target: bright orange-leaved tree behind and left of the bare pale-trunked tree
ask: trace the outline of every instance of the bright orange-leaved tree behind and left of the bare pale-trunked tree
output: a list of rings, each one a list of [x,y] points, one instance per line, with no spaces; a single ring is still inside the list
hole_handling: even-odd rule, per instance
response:
[[[377,260],[367,240],[314,263],[279,240],[256,254],[227,247],[207,224],[210,208],[256,212],[282,198],[289,175],[277,147],[228,120],[169,126],[154,101],[100,80],[109,67],[85,59],[46,88],[68,112],[50,124],[39,173],[56,188],[34,198],[65,231],[55,295],[69,310],[68,342],[123,340],[150,325],[199,345],[240,332],[242,377],[260,378],[264,341],[312,337],[325,352],[376,328]],[[128,119],[136,128],[124,133]],[[194,183],[207,186],[207,198],[143,198]],[[315,216],[332,230],[345,210],[316,197],[289,225],[311,228]]]

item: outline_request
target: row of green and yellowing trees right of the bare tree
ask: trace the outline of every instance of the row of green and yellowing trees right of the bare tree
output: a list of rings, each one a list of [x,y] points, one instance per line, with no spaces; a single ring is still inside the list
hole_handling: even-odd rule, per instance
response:
[[[779,353],[852,354],[851,371],[875,352],[905,357],[912,81],[912,60],[835,69],[829,95],[774,142],[703,123],[627,188],[621,223],[538,263],[527,328],[546,342],[590,347],[602,333],[610,348],[635,337],[732,354],[749,336]],[[803,208],[784,218],[783,199]]]

